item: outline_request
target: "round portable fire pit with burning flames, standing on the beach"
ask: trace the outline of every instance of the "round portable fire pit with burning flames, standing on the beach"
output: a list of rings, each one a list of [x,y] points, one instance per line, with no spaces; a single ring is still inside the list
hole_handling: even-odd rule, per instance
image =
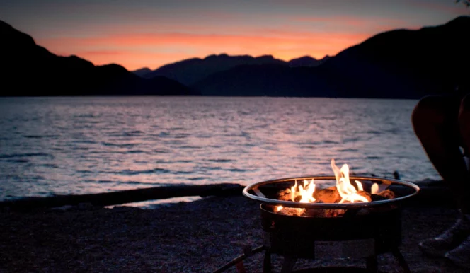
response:
[[[282,273],[292,272],[299,258],[365,258],[363,270],[377,272],[377,255],[385,252],[391,252],[403,271],[409,272],[399,251],[400,204],[417,194],[419,187],[388,178],[350,177],[348,165],[339,169],[334,160],[331,166],[334,177],[284,178],[245,187],[243,195],[261,203],[263,245],[246,251],[216,272],[235,264],[243,271],[243,258],[262,250],[265,251],[263,272],[271,272],[273,254],[284,257]],[[336,185],[328,187],[328,183]],[[328,269],[335,272],[331,267]],[[338,272],[360,270],[336,269]]]

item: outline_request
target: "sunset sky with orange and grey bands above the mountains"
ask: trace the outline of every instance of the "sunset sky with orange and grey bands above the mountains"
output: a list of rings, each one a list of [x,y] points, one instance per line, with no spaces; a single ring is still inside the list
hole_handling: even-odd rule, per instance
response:
[[[0,20],[50,52],[129,70],[222,53],[319,59],[469,14],[454,0],[0,1]]]

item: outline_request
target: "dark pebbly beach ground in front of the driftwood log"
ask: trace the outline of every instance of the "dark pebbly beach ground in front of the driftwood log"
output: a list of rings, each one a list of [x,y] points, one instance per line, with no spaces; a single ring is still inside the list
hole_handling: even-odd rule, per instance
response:
[[[418,242],[437,236],[457,212],[449,207],[404,207],[401,252],[412,272],[465,272],[426,257]],[[212,272],[261,245],[259,204],[246,197],[207,197],[156,209],[81,205],[65,210],[0,212],[0,272]],[[262,272],[262,252],[244,261]],[[379,269],[401,272],[391,254]],[[273,272],[282,258],[273,255]],[[365,267],[363,260],[299,260],[307,267]],[[236,272],[231,267],[227,272]]]

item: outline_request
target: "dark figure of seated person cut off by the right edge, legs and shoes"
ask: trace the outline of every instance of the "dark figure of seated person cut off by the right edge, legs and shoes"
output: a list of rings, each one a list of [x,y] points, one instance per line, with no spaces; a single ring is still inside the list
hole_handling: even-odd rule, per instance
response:
[[[415,106],[413,129],[428,158],[450,187],[459,219],[440,236],[423,240],[420,249],[470,269],[470,93],[430,95]]]

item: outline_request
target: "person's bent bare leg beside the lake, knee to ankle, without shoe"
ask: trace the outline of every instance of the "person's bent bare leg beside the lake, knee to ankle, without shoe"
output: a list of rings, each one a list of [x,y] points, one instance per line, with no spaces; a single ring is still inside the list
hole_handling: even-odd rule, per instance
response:
[[[416,105],[412,122],[431,163],[454,192],[459,209],[464,209],[470,175],[459,150],[459,104],[458,98],[450,96],[425,97]],[[467,115],[463,112],[462,120]]]

